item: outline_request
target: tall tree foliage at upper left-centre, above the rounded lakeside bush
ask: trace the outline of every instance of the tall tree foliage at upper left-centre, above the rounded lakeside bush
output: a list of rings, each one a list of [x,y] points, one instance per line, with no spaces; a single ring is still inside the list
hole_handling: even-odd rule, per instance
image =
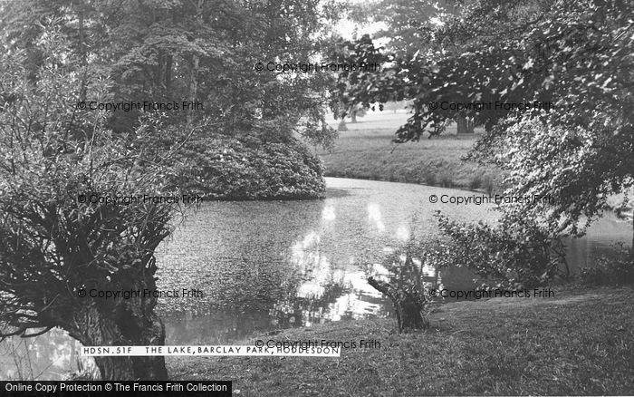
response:
[[[118,99],[203,104],[200,111],[170,112],[172,124],[212,118],[224,122],[226,133],[239,133],[260,120],[292,121],[294,131],[327,146],[336,136],[324,122],[331,73],[260,72],[255,64],[318,61],[314,54],[336,19],[333,6],[297,0],[93,3],[110,38],[95,50],[108,57],[103,62],[116,76]],[[115,113],[110,123],[126,131],[135,117]]]

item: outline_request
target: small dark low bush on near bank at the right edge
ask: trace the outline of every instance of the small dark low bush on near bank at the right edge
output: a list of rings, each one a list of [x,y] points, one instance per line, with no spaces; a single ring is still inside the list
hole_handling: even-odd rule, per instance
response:
[[[634,263],[629,258],[629,249],[623,244],[613,247],[613,252],[596,258],[592,267],[583,267],[581,283],[588,286],[615,286],[634,283]]]

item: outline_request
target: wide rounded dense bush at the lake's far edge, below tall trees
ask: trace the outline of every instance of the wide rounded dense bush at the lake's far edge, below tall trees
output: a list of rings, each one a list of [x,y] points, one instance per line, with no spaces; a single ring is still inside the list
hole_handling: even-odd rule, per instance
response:
[[[323,197],[322,162],[291,137],[216,134],[190,140],[178,153],[169,183],[205,199]]]

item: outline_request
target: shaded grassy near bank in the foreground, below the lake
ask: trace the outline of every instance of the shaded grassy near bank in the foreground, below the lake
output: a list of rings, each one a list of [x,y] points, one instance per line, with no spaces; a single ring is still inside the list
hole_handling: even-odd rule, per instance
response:
[[[634,393],[634,288],[554,294],[442,305],[416,334],[395,334],[386,319],[256,338],[380,343],[341,358],[168,357],[168,371],[232,380],[246,396]]]

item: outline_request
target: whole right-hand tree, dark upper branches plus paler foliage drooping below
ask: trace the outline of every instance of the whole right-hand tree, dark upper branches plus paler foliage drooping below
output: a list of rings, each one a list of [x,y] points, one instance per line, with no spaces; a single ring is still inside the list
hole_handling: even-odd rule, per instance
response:
[[[610,194],[633,183],[632,7],[478,0],[432,29],[427,53],[395,58],[350,94],[368,105],[413,98],[401,142],[441,133],[460,111],[431,102],[490,104],[463,110],[488,130],[470,159],[508,169],[507,196],[543,199],[505,205],[508,216],[579,236]]]

